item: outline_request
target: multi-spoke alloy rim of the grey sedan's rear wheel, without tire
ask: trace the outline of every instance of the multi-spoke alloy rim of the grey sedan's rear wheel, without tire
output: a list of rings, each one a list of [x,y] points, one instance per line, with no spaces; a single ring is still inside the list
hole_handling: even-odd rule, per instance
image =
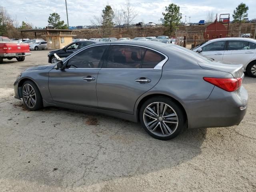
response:
[[[143,120],[148,130],[158,136],[169,136],[178,127],[176,112],[163,102],[149,104],[144,110]]]

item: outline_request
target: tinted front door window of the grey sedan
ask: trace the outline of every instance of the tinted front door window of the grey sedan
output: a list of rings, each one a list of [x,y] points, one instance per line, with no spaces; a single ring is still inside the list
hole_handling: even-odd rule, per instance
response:
[[[95,46],[79,52],[68,60],[67,68],[100,68],[107,47]]]

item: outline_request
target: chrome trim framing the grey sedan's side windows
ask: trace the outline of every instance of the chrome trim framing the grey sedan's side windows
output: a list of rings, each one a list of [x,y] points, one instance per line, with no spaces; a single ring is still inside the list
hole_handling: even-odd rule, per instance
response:
[[[158,52],[159,54],[162,54],[165,57],[165,59],[162,60],[161,62],[159,62],[158,64],[156,64],[156,66],[154,68],[66,68],[66,69],[162,69],[162,67],[164,66],[166,61],[169,59],[168,56],[166,56],[166,54],[163,54],[162,52],[160,52],[158,50],[155,50],[155,49],[152,49],[152,48],[149,48],[149,47],[146,47],[146,46],[134,45],[134,44],[100,44],[100,45],[90,46],[88,48],[96,47],[96,46],[106,46],[106,45],[126,45],[126,46],[142,47],[142,48],[146,48],[146,49],[150,49],[150,50],[153,50],[155,52]],[[76,54],[78,54],[81,51],[86,50],[88,48],[85,48],[85,49],[82,49],[82,50],[78,50],[78,51],[76,51],[77,52]],[[74,54],[72,57],[74,57],[76,54]],[[68,58],[68,60],[70,60],[72,57]],[[68,62],[68,60],[66,60],[64,62],[64,64],[66,64],[66,62]]]

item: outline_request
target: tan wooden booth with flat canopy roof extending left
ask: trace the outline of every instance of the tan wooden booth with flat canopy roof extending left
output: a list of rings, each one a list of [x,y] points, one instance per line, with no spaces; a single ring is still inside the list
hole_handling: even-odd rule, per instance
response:
[[[47,41],[48,49],[61,49],[64,46],[70,44],[73,37],[76,35],[72,34],[72,30],[67,29],[27,29],[20,30],[23,39],[24,33],[34,33],[35,38],[38,38],[38,33],[43,33],[41,36],[45,36]]]

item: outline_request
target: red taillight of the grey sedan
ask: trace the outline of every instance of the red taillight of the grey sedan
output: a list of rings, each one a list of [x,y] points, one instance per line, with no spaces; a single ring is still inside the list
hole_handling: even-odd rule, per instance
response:
[[[242,85],[242,78],[204,77],[204,80],[228,92],[235,91]]]

